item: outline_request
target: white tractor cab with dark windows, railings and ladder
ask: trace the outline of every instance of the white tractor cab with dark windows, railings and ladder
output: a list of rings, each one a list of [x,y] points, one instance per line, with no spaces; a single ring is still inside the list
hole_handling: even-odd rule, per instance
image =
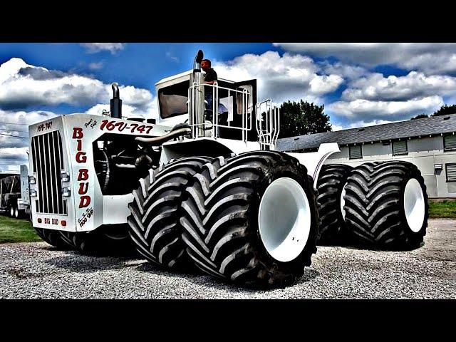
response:
[[[275,149],[279,110],[271,100],[257,102],[257,80],[219,78],[210,85],[203,83],[202,75],[190,70],[155,84],[157,122],[190,127],[194,139],[257,141],[264,149]]]

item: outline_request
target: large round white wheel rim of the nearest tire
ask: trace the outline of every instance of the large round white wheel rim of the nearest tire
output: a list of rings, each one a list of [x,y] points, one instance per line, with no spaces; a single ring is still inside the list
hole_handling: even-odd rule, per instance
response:
[[[261,242],[274,259],[296,259],[306,247],[311,229],[311,209],[306,192],[296,180],[282,177],[266,188],[259,204]]]

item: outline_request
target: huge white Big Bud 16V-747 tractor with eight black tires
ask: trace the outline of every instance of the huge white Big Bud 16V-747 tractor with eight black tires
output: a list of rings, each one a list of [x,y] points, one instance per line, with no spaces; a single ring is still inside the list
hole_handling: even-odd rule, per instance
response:
[[[279,110],[257,102],[256,80],[204,83],[202,58],[198,51],[192,71],[156,84],[158,123],[123,119],[113,85],[110,115],[30,126],[33,227],[45,241],[95,251],[133,242],[167,268],[197,266],[255,286],[304,273],[316,252],[318,205],[332,212],[323,225],[353,224],[378,246],[423,241],[427,197],[416,167],[362,165],[343,180],[326,171],[317,204],[318,174],[338,145],[277,151]]]

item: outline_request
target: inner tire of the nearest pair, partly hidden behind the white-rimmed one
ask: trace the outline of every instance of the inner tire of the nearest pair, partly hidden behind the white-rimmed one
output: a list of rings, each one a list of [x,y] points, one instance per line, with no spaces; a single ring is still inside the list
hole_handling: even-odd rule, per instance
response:
[[[170,269],[188,269],[192,261],[185,252],[180,225],[182,191],[209,157],[184,157],[149,170],[133,191],[128,204],[130,237],[142,257]]]

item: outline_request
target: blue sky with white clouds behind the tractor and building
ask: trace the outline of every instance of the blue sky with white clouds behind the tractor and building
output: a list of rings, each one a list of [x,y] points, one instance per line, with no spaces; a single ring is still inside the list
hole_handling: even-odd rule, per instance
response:
[[[456,103],[455,43],[0,43],[0,172],[27,160],[27,125],[108,109],[157,115],[154,84],[202,48],[219,77],[259,99],[324,104],[333,130],[407,120]]]

